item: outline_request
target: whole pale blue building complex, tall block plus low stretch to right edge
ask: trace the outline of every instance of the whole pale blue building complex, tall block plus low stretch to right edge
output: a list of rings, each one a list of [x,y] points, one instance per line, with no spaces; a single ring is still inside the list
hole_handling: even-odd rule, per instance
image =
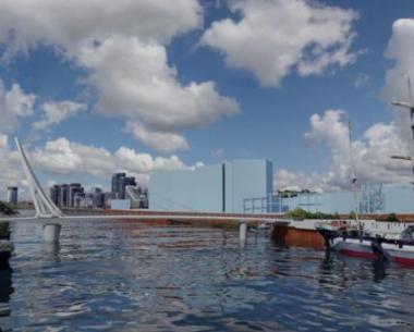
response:
[[[273,170],[267,160],[235,160],[194,170],[150,175],[149,209],[233,213],[310,212],[414,213],[414,186],[369,183],[353,192],[273,195]]]

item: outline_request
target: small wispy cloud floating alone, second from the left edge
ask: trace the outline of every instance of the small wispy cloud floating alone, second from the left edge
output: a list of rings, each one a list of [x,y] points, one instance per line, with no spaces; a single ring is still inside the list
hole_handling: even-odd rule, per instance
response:
[[[77,103],[71,100],[60,102],[50,101],[42,106],[42,119],[32,124],[35,130],[45,130],[51,125],[56,125],[63,120],[86,110],[86,104]]]

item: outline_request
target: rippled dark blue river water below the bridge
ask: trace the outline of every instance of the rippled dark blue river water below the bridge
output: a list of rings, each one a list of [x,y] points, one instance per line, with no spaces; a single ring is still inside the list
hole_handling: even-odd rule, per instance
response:
[[[243,248],[218,229],[71,221],[60,247],[44,245],[38,222],[12,231],[3,329],[414,331],[414,269],[398,265],[326,258],[267,235]]]

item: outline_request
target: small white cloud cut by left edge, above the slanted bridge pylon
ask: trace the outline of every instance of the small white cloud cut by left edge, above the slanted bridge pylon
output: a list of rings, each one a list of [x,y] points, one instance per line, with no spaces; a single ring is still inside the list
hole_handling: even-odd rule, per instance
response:
[[[26,94],[19,84],[7,90],[0,79],[0,130],[14,130],[21,119],[33,115],[35,101],[36,95]]]

